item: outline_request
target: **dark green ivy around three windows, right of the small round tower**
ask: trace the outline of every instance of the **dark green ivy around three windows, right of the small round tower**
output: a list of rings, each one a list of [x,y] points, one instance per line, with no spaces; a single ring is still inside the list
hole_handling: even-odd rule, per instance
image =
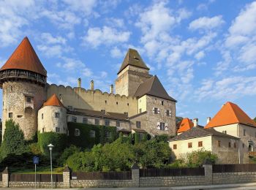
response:
[[[69,130],[68,141],[70,144],[81,148],[92,148],[94,145],[106,142],[113,142],[117,138],[115,126],[97,126],[86,123],[67,123]],[[79,129],[80,135],[75,136],[75,129]],[[95,137],[90,137],[90,131],[95,132]],[[110,132],[110,138],[106,138],[106,133]]]

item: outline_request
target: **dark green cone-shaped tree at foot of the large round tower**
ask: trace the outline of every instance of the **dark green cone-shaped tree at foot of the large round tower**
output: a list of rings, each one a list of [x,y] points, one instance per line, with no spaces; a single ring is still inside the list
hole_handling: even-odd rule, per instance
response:
[[[20,155],[28,151],[24,134],[18,123],[8,120],[5,126],[4,139],[0,148],[1,158],[4,159],[10,154]]]

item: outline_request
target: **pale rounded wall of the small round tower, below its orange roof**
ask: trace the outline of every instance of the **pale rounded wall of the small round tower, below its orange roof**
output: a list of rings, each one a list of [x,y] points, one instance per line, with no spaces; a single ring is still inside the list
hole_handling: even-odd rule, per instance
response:
[[[59,113],[59,118],[55,117]],[[43,114],[43,118],[42,118]],[[44,106],[38,111],[38,131],[56,132],[56,127],[60,128],[59,133],[67,134],[67,110],[59,106]]]

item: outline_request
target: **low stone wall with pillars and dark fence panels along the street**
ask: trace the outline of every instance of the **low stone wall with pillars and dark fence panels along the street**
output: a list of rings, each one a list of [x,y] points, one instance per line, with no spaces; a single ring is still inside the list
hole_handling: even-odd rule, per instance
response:
[[[2,172],[0,186],[34,188],[34,175]],[[50,175],[37,175],[37,188],[50,188]],[[53,188],[197,186],[256,182],[256,164],[206,164],[196,168],[140,170],[136,164],[123,172],[70,172],[53,175]]]

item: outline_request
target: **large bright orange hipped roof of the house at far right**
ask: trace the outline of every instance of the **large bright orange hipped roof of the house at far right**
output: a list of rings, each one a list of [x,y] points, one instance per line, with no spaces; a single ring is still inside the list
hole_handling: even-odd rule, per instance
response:
[[[222,109],[211,119],[211,121],[206,125],[207,128],[215,127],[215,126],[225,126],[233,123],[241,123],[249,126],[255,126],[255,121],[252,118],[241,110],[237,104],[232,102],[227,102],[222,106]]]

